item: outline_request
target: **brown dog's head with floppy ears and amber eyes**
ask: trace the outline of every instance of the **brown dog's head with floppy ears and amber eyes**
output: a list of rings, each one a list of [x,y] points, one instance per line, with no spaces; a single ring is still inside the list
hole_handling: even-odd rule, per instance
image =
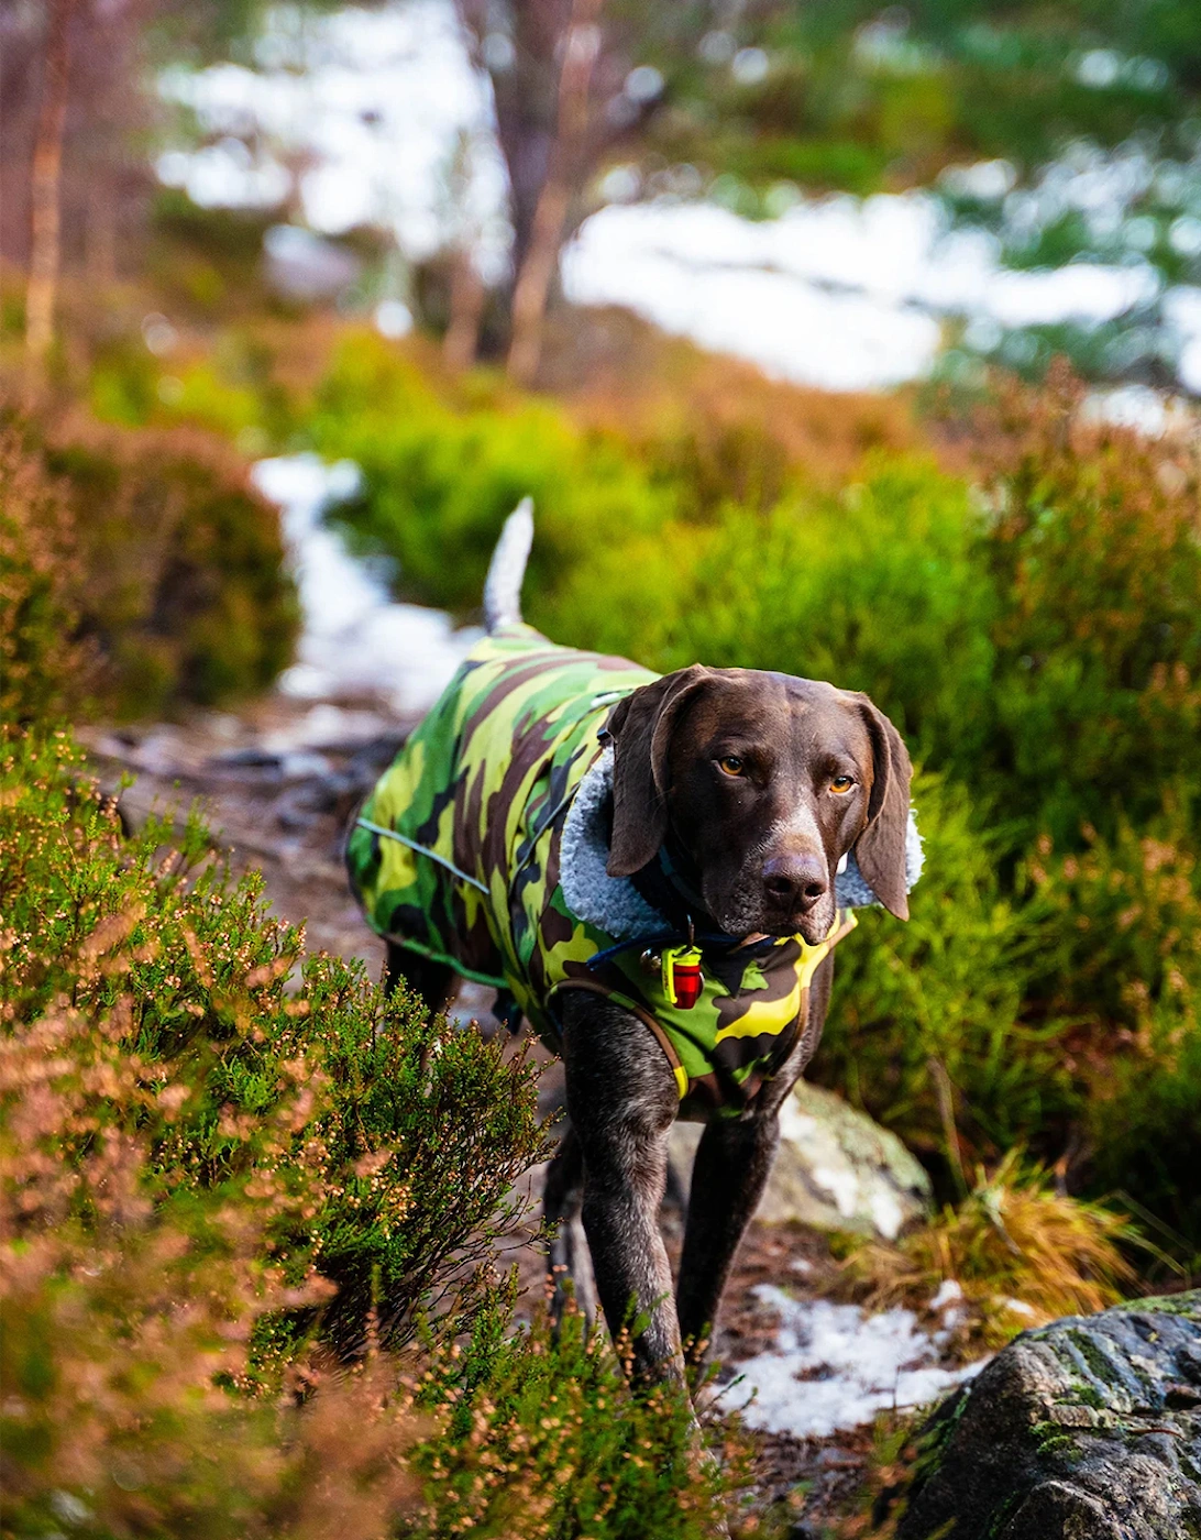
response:
[[[627,696],[610,733],[610,876],[647,865],[670,830],[724,930],[818,942],[853,850],[884,907],[908,918],[910,762],[865,695],[698,664]]]

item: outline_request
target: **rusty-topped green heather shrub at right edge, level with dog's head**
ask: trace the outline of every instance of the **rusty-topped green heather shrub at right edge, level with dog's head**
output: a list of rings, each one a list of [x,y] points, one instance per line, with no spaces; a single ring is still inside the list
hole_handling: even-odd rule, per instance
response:
[[[1056,373],[975,424],[996,662],[987,752],[955,762],[1069,844],[1156,815],[1201,770],[1201,460],[1082,405]]]

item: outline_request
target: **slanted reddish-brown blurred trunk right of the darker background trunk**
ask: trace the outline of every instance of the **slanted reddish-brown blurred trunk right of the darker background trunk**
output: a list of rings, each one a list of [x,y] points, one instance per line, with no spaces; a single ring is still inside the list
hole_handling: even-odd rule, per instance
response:
[[[507,370],[510,379],[519,385],[533,383],[542,356],[547,300],[588,131],[588,95],[593,66],[600,51],[596,26],[600,5],[602,0],[573,0],[571,20],[564,38],[557,132],[551,145],[547,180],[542,183],[534,209],[528,248],[513,290],[513,336]]]

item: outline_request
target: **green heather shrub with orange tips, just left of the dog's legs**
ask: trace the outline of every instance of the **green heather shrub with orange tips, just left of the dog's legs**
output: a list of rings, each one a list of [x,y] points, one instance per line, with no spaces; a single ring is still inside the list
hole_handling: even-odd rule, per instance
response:
[[[487,1294],[510,1189],[537,1158],[533,1073],[476,1033],[385,1003],[360,967],[314,958],[231,884],[203,829],[122,839],[79,782],[69,741],[17,738],[0,767],[0,998],[15,1030],[60,999],[115,1033],[137,1095],[92,1076],[95,1127],[149,1141],[163,1201],[273,1194],[273,1258],[339,1286],[325,1331],[400,1341],[419,1311],[470,1315]],[[296,987],[299,984],[299,987]],[[159,1083],[183,1089],[159,1092]],[[63,1137],[80,1158],[92,1138]],[[286,1346],[303,1321],[276,1323]]]

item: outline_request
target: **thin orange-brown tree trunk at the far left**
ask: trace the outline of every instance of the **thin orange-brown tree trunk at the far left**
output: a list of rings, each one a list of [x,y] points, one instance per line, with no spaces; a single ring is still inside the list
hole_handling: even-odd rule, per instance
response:
[[[54,303],[62,260],[60,205],[69,75],[68,48],[75,3],[77,0],[52,0],[42,75],[42,108],[34,142],[29,286],[25,302],[25,345],[34,365],[43,363],[54,340]]]

